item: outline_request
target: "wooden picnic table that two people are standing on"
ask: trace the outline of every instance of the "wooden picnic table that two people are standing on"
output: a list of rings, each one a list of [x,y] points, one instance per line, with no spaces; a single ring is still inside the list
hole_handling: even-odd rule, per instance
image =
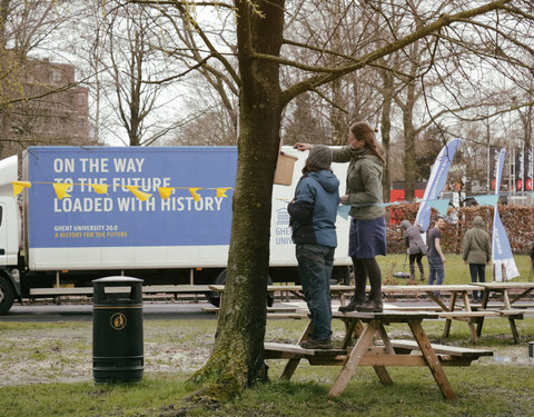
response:
[[[332,389],[330,398],[338,397],[347,387],[358,366],[373,366],[384,385],[393,384],[388,366],[427,367],[443,397],[456,398],[443,366],[468,366],[481,356],[492,356],[491,350],[457,348],[433,345],[423,329],[424,319],[437,318],[436,312],[428,311],[390,311],[384,312],[334,312],[333,318],[345,322],[345,337],[338,349],[305,349],[298,344],[310,332],[308,324],[297,345],[265,344],[266,359],[288,359],[281,378],[289,379],[301,359],[310,365],[342,366]],[[413,338],[411,340],[392,340],[387,332],[389,324],[406,324]],[[354,341],[354,345],[353,345]],[[415,355],[412,353],[416,353]]]

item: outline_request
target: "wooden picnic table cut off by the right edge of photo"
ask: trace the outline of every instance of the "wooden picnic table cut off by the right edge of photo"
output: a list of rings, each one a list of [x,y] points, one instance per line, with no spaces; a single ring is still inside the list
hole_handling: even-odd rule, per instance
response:
[[[524,310],[514,309],[513,305],[518,299],[526,297],[534,289],[534,282],[492,281],[492,282],[477,282],[475,285],[484,288],[484,294],[482,296],[482,304],[481,304],[482,310],[487,309],[487,302],[490,300],[490,296],[492,292],[501,294],[503,299],[503,307],[500,308],[498,311],[502,316],[508,318],[510,328],[512,329],[512,335],[514,337],[515,342],[518,344],[520,334],[517,332],[515,320],[523,318]],[[518,290],[520,292],[514,294],[513,297],[511,297],[511,294],[510,294],[511,289]],[[481,317],[477,320],[477,326],[476,326],[477,336],[482,335],[483,326],[484,326],[484,317]]]

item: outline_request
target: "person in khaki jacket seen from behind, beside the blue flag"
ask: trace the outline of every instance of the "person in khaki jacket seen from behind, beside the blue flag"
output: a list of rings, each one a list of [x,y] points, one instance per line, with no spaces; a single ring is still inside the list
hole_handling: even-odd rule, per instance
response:
[[[479,282],[486,281],[486,265],[490,265],[492,257],[492,244],[490,235],[482,227],[484,220],[481,216],[476,216],[473,220],[473,228],[467,230],[464,235],[464,254],[463,259],[465,265],[469,265],[471,281]],[[473,291],[473,300],[479,301],[482,291]]]

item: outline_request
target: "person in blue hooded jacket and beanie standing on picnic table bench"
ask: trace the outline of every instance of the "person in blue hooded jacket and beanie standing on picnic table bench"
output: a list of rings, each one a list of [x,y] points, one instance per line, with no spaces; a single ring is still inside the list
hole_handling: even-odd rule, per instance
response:
[[[312,316],[313,334],[300,344],[306,349],[332,348],[330,277],[337,246],[335,222],[339,180],[332,172],[330,165],[328,147],[314,147],[303,168],[295,198],[287,207],[298,275]]]

